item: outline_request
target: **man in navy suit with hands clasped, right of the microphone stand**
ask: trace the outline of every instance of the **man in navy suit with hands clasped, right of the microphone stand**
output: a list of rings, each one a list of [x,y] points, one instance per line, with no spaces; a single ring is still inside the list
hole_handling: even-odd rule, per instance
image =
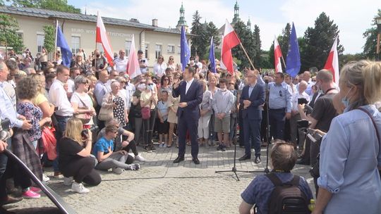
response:
[[[243,139],[245,141],[245,155],[238,160],[251,158],[251,144],[254,144],[255,163],[260,163],[260,122],[262,110],[260,106],[265,103],[265,85],[257,82],[258,71],[248,70],[246,77],[248,85],[243,87],[239,103],[243,106]],[[250,141],[250,139],[254,139]]]

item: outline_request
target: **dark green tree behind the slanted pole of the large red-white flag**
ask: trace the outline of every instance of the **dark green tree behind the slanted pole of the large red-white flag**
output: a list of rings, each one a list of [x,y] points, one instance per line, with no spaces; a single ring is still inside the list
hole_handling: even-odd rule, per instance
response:
[[[241,40],[243,47],[245,47],[248,56],[251,61],[255,61],[255,38],[253,32],[248,29],[248,27],[242,21],[238,21],[234,25],[234,31],[238,35],[238,38]],[[237,59],[236,63],[238,67],[242,70],[245,67],[250,68],[250,62],[246,57],[245,52],[242,50],[241,46],[236,46],[232,50],[232,55]]]

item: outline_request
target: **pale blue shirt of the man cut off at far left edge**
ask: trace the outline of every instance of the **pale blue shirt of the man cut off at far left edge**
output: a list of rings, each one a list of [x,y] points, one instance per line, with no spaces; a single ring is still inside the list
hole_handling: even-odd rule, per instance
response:
[[[0,117],[1,120],[8,118],[12,127],[23,126],[23,120],[18,120],[18,113],[16,113],[16,109],[13,107],[11,98],[4,91],[2,82],[0,82]]]

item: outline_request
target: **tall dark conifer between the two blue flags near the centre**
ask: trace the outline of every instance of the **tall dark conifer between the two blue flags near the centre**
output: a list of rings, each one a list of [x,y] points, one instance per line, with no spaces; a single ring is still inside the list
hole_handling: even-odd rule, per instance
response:
[[[204,54],[207,51],[207,46],[209,46],[209,43],[207,42],[206,38],[207,24],[201,24],[200,19],[200,13],[198,13],[198,11],[195,11],[195,14],[193,14],[191,34],[195,34],[196,36],[192,39],[191,55],[197,55],[202,58],[202,56],[204,56]]]

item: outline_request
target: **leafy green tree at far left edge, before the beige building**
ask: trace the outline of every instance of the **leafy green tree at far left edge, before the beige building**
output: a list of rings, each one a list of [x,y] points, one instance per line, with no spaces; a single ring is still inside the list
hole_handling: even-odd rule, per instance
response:
[[[12,47],[16,53],[21,53],[24,49],[23,39],[17,33],[17,20],[10,15],[0,14],[0,44],[1,46]]]

